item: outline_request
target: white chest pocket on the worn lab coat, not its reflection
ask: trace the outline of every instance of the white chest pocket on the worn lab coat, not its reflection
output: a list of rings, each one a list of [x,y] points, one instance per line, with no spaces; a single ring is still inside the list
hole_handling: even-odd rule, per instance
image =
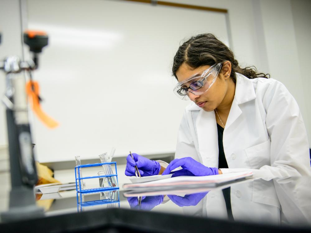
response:
[[[270,162],[270,145],[271,141],[267,141],[245,149],[248,161],[253,169],[259,169],[264,165],[271,165]]]

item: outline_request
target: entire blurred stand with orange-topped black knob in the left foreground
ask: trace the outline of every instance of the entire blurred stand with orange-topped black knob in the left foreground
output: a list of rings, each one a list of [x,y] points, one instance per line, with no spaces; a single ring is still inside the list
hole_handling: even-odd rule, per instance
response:
[[[48,44],[48,36],[44,32],[26,31],[23,38],[33,52],[33,59],[20,61],[17,56],[9,56],[0,61],[0,70],[6,75],[6,91],[2,102],[6,106],[12,187],[9,210],[1,213],[3,222],[34,218],[44,214],[43,209],[35,204],[34,185],[38,182],[38,177],[28,119],[26,78],[23,71],[29,73],[32,82],[31,71],[38,68],[38,53]],[[30,89],[39,94],[39,91],[35,90],[35,85],[31,86]],[[38,95],[37,98],[39,99]]]

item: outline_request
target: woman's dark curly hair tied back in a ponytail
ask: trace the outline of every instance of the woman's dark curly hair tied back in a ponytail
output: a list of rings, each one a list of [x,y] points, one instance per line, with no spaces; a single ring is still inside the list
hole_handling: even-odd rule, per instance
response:
[[[269,74],[258,72],[255,66],[241,68],[239,62],[234,59],[231,49],[210,33],[193,36],[179,46],[174,57],[172,72],[177,79],[176,72],[183,63],[195,69],[199,66],[212,66],[223,61],[231,62],[230,76],[234,82],[236,82],[235,72],[249,79],[257,77],[270,78]]]

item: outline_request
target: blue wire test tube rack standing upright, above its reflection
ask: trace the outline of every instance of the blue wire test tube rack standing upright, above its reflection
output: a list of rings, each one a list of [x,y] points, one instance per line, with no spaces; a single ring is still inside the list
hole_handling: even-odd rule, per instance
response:
[[[81,177],[80,176],[80,168],[84,167],[99,167],[102,165],[112,165],[114,164],[115,167],[115,175],[104,175],[104,176],[87,176],[87,177]],[[79,193],[93,193],[93,192],[98,192],[98,191],[108,191],[108,190],[118,190],[119,189],[119,181],[118,181],[118,172],[117,172],[117,163],[116,162],[105,162],[105,163],[94,163],[94,164],[85,164],[85,165],[79,165],[75,167],[75,176],[76,176],[76,190]],[[92,179],[92,178],[104,178],[104,177],[111,177],[115,176],[117,179],[117,186],[115,187],[99,187],[99,188],[94,188],[94,189],[81,189],[81,182],[84,179]],[[79,188],[78,188],[79,184]]]

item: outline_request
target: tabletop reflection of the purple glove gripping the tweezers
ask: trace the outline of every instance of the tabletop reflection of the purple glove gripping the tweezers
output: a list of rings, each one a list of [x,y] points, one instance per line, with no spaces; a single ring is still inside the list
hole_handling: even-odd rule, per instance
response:
[[[142,203],[139,206],[137,197],[129,197],[128,203],[130,204],[131,209],[151,210],[157,205],[160,205],[163,202],[163,198],[163,195],[142,197]]]

